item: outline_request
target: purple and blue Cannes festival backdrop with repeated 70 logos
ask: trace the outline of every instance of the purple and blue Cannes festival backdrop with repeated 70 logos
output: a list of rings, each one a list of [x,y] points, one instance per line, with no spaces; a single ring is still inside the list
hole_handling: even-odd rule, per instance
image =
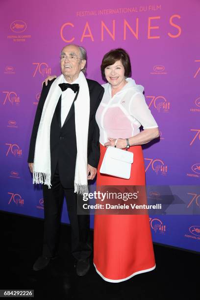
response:
[[[103,55],[124,48],[160,129],[143,147],[148,198],[176,207],[150,215],[153,241],[200,251],[200,1],[7,0],[0,10],[0,210],[44,217],[27,155],[42,81],[60,74],[61,49],[85,47],[87,77],[102,84]]]

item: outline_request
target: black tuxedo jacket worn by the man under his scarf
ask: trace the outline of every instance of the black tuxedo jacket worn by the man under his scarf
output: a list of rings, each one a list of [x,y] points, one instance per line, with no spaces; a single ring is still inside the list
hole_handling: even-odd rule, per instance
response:
[[[55,79],[48,81],[48,86],[43,84],[33,124],[28,162],[34,161],[35,143],[40,124],[43,106],[50,86]],[[90,94],[90,117],[88,129],[88,164],[97,168],[100,158],[99,127],[95,120],[95,114],[103,97],[104,89],[94,80],[87,79]],[[76,93],[77,94],[77,93]],[[84,99],[83,99],[84,101]],[[61,98],[57,103],[50,126],[50,159],[51,180],[58,163],[60,181],[64,188],[74,187],[75,161],[76,161],[76,136],[75,136],[75,108],[72,104],[65,123],[61,127]]]

